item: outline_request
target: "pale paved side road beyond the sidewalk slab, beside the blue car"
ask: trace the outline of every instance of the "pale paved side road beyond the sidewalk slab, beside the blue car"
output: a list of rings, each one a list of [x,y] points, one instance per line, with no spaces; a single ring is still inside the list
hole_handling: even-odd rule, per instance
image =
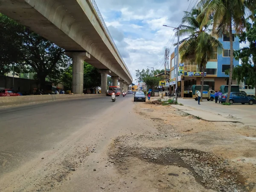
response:
[[[256,105],[242,105],[240,103],[233,105],[221,105],[214,101],[203,100],[201,105],[195,99],[178,99],[178,102],[183,105],[202,110],[216,113],[224,117],[232,117],[239,120],[245,125],[256,126]]]

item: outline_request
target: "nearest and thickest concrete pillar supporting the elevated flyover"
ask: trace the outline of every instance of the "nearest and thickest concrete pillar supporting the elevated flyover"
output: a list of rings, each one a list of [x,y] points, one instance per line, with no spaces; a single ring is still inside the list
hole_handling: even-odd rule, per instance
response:
[[[72,58],[72,93],[82,94],[84,91],[84,60],[90,58],[87,52],[66,52]]]

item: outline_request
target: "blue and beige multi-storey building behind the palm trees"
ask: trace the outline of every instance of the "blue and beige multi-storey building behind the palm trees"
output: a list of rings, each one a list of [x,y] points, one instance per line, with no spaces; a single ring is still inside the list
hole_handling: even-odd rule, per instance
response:
[[[235,31],[233,31],[235,33]],[[223,35],[219,38],[219,41],[223,45],[223,49],[216,48],[216,52],[211,55],[210,60],[206,65],[206,76],[204,84],[209,85],[212,90],[219,90],[221,85],[228,84],[229,76],[225,75],[225,70],[230,69],[230,38],[227,35]],[[233,34],[233,49],[239,50],[239,38]],[[176,60],[177,60],[177,47],[171,54],[171,66],[170,66],[170,90],[175,90],[176,80]],[[179,58],[180,61],[180,58]],[[233,59],[233,66],[239,65],[239,61]],[[182,97],[191,97],[191,87],[193,84],[201,84],[201,73],[197,63],[192,61],[186,61],[184,63],[179,62],[179,74],[178,78],[178,90],[181,91]],[[233,80],[233,84],[236,84],[236,80]]]

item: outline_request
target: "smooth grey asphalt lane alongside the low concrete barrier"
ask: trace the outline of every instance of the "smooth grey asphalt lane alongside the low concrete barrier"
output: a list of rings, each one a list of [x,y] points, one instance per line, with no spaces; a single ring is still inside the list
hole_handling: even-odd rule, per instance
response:
[[[0,109],[0,177],[15,171],[99,117],[131,105],[132,95],[47,102]],[[132,108],[132,107],[130,107]],[[88,128],[91,129],[91,128]]]

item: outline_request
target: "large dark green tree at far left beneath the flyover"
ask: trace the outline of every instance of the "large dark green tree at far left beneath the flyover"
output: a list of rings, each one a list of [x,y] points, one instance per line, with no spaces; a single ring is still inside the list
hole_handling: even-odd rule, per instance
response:
[[[61,47],[2,14],[0,24],[0,62],[7,69],[10,64],[15,64],[16,73],[36,73],[35,79],[44,88],[47,76],[53,79],[68,66],[70,59]]]

